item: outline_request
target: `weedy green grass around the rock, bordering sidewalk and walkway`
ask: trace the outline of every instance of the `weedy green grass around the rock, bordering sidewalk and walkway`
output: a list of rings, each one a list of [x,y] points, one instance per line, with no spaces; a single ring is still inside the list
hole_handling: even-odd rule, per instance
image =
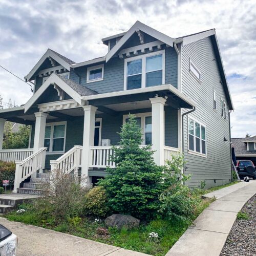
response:
[[[214,201],[214,199],[201,199],[202,194],[204,194],[204,190],[202,189],[195,191],[195,197],[199,199],[199,203],[194,219]],[[20,205],[19,208],[25,208],[26,211],[23,214],[13,211],[5,215],[5,217],[10,221],[41,226],[55,231],[69,233],[77,237],[156,256],[165,255],[189,226],[189,223],[185,222],[177,223],[175,221],[156,219],[149,223],[141,223],[139,228],[133,230],[110,228],[108,236],[100,236],[96,230],[98,227],[105,227],[103,221],[95,222],[94,218],[84,217],[79,218],[79,223],[63,222],[54,225],[52,219],[43,219],[46,217],[38,216],[30,205]],[[158,239],[150,239],[149,234],[151,232],[158,233]]]

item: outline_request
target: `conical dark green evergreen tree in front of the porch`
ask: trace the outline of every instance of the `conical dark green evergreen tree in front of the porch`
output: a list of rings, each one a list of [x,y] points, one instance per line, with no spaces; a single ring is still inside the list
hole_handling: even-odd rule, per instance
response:
[[[108,168],[110,175],[98,183],[105,188],[111,210],[150,219],[157,214],[163,174],[154,162],[151,145],[140,147],[141,136],[135,116],[130,115],[121,129],[120,147],[112,147],[116,168]]]

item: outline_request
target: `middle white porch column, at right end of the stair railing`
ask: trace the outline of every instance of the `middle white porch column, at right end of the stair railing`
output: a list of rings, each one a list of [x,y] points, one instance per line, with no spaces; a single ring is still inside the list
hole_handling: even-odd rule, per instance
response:
[[[94,145],[94,129],[95,114],[97,108],[92,105],[83,106],[84,122],[83,122],[83,143],[82,143],[82,169],[81,169],[81,185],[92,186],[92,179],[89,177],[90,150]],[[87,178],[87,179],[86,179]],[[83,180],[86,179],[86,180]]]

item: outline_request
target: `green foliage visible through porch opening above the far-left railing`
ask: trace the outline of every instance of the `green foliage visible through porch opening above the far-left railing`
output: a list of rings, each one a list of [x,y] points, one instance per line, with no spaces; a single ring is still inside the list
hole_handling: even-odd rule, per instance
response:
[[[6,122],[4,131],[3,149],[11,148],[28,148],[29,147],[29,133],[30,127],[27,125],[20,125],[18,131],[12,130],[12,123]]]

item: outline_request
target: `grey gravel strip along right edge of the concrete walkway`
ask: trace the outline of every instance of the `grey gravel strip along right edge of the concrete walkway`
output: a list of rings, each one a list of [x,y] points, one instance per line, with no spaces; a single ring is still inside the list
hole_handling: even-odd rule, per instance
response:
[[[220,255],[256,255],[256,195],[242,208],[249,220],[236,220]]]

